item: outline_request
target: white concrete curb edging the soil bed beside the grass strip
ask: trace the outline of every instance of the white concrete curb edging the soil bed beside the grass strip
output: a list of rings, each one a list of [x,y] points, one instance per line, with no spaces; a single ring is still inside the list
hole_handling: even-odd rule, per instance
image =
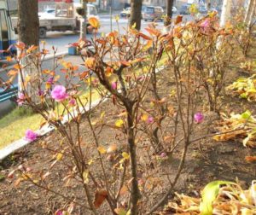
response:
[[[156,73],[160,73],[162,70],[164,70],[166,67],[162,66],[159,68],[156,68]],[[95,102],[91,103],[91,108],[95,108],[100,102],[106,102],[108,99],[104,99],[104,100],[96,100]],[[89,105],[85,107],[85,110],[89,110]],[[81,113],[84,113],[84,109],[80,108],[79,109]],[[77,113],[74,113],[75,115],[77,115]],[[64,116],[64,119],[62,120],[62,124],[66,124],[69,121],[69,115]],[[49,125],[44,125],[41,129],[39,129],[38,131],[35,131],[40,137],[44,137],[44,135],[48,134],[51,131],[54,131],[55,128],[53,126],[49,126]],[[26,146],[27,144],[29,144],[31,142],[26,141],[24,138],[17,140],[15,142],[10,143],[7,147],[0,149],[0,160],[3,160],[4,158],[6,158],[9,154],[14,153],[16,150]]]

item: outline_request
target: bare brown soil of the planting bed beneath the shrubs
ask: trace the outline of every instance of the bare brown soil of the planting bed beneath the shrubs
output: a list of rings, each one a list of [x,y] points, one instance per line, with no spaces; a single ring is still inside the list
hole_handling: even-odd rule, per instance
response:
[[[238,73],[235,73],[234,76],[229,78],[234,80],[238,75]],[[166,85],[167,83],[164,86]],[[241,101],[236,99],[236,97],[230,98],[230,96],[226,96],[224,102],[229,103],[229,107],[225,109],[227,113],[231,112],[231,110],[241,113],[246,108],[253,110],[251,103]],[[243,107],[241,107],[241,102]],[[102,110],[110,108],[113,108],[113,104],[110,101],[106,102],[96,110],[94,115],[96,116]],[[119,113],[118,108],[106,117],[114,122],[117,119],[117,113]],[[195,137],[214,131],[214,120],[216,119],[218,119],[216,114],[206,113],[206,120],[201,125],[196,125],[200,126],[200,133],[196,133]],[[95,154],[95,149],[91,146],[93,138],[91,137],[88,123],[85,120],[81,126],[83,126],[84,131],[83,139],[86,142],[84,143],[84,153],[87,153],[90,157]],[[72,125],[72,129],[75,133],[74,125]],[[55,153],[53,152],[55,152],[56,148],[60,147],[61,140],[59,133],[56,131],[52,132],[48,137],[42,137],[38,142],[22,148],[0,163],[0,178],[3,176],[0,179],[0,214],[53,214],[59,208],[66,208],[67,200],[64,200],[62,197],[46,192],[44,189],[39,189],[28,182],[22,182],[19,186],[15,186],[15,179],[6,177],[9,171],[12,171],[21,164],[31,167],[32,172],[44,171],[45,173],[54,161],[53,154]],[[44,144],[47,143],[47,147],[51,148],[53,152],[45,147],[42,148],[42,145],[44,145],[42,142]],[[123,137],[120,136],[120,132],[109,130],[108,127],[102,129],[100,142],[105,146],[116,142],[119,152],[126,150],[126,145]],[[138,175],[139,179],[143,182],[146,182],[149,176],[151,176],[150,183],[144,187],[143,193],[143,200],[147,200],[147,206],[143,206],[143,210],[147,211],[168,189],[168,178],[172,180],[175,176],[182,150],[177,148],[172,157],[165,160],[157,160],[154,154],[147,152],[145,149],[147,148],[144,148],[144,146],[138,147]],[[244,148],[241,142],[238,141],[215,142],[208,138],[191,144],[185,167],[175,190],[186,194],[198,195],[200,190],[212,180],[234,181],[236,179],[240,181],[243,187],[248,187],[251,181],[256,178],[256,166],[255,164],[247,163],[245,156],[255,154],[255,148]],[[62,180],[67,175],[67,172],[70,171],[69,162],[70,160],[67,157],[64,157],[63,162],[57,162],[52,167],[52,173],[49,175],[47,182],[51,184],[50,188],[55,189],[55,191],[60,192],[62,195],[70,199],[76,196],[78,200],[82,202],[84,200],[85,202],[84,192],[81,189],[80,183],[71,181],[65,184]],[[114,164],[115,160],[113,159],[112,162]],[[108,164],[106,166],[111,173],[111,166],[108,166]],[[143,172],[145,169],[147,169],[147,172]],[[97,168],[91,171],[96,173]],[[99,212],[100,214],[112,214],[108,210],[106,203],[101,206]],[[77,205],[75,206],[74,214],[90,214],[90,212]]]

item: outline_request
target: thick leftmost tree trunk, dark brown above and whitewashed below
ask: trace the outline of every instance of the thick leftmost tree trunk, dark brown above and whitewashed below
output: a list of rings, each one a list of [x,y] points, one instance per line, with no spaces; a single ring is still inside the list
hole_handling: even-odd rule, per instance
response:
[[[39,20],[38,20],[38,0],[18,1],[18,34],[19,41],[26,44],[26,48],[39,44]],[[18,50],[18,54],[19,54]],[[37,51],[37,50],[35,50]],[[21,60],[21,64],[26,66],[22,69],[22,77],[30,77],[30,84],[22,84],[21,74],[19,74],[19,91],[26,92],[32,102],[38,103],[38,90],[40,89],[40,74],[38,68],[32,62],[32,55],[27,55]],[[24,80],[24,79],[23,79]]]

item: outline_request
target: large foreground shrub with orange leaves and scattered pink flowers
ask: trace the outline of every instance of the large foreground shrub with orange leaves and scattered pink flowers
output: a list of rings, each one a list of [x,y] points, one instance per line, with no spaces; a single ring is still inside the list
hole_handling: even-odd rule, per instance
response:
[[[200,140],[194,135],[204,120],[203,111],[199,112],[203,93],[211,93],[209,104],[216,109],[211,99],[217,100],[214,90],[221,88],[218,81],[224,78],[224,61],[214,55],[221,50],[225,53],[228,48],[222,46],[218,50],[213,44],[218,36],[230,32],[214,26],[214,19],[207,17],[181,25],[182,16],[178,16],[168,34],[150,25],[145,29],[147,33],[131,27],[124,35],[114,31],[102,37],[95,34],[90,41],[80,40],[73,45],[81,53],[83,72],[63,59],[55,61],[61,73],[38,67],[42,80],[34,89],[38,92],[37,103],[26,93],[32,78],[22,78],[19,104],[40,113],[44,118],[41,126],[54,126],[61,140],[49,146],[49,140],[43,139],[43,148],[54,156],[49,170],[37,175],[38,171],[25,164],[15,170],[17,177],[22,177],[16,184],[26,179],[60,195],[66,207],[56,214],[73,212],[75,206],[99,214],[102,205],[113,214],[154,212],[173,192],[189,145]],[[89,21],[96,30],[100,26],[96,19]],[[94,49],[89,49],[90,45]],[[30,54],[26,46],[19,44],[17,48],[21,54],[15,58],[17,64],[9,73],[11,77],[22,74],[20,59],[25,55],[42,65],[41,59],[44,61],[48,53],[43,49]],[[216,61],[218,65],[214,64]],[[160,62],[166,67],[162,71],[158,70]],[[107,100],[108,108],[95,115]],[[102,141],[102,130],[109,132],[113,143]],[[33,141],[38,135],[27,131],[26,139]],[[161,176],[157,171],[148,172],[148,164],[169,160],[174,152],[180,154],[180,160],[172,180],[167,172]],[[83,199],[62,195],[48,186],[49,175],[61,162],[67,173],[60,184],[79,183]],[[172,161],[169,165],[172,168]],[[164,177],[168,184],[161,187]],[[149,203],[148,196],[158,187],[163,190],[158,200]]]

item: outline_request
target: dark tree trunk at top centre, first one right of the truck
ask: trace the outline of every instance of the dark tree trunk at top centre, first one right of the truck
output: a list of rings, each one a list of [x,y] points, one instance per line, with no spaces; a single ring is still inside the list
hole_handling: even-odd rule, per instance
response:
[[[135,28],[137,30],[141,29],[141,20],[142,20],[142,0],[131,0],[131,17],[130,17],[130,26],[136,24]]]

